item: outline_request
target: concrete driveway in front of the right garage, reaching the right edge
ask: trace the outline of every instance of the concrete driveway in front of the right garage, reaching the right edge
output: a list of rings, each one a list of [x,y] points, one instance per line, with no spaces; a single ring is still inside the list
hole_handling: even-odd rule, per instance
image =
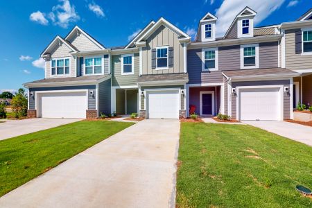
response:
[[[243,121],[243,123],[312,146],[312,127],[286,121]]]

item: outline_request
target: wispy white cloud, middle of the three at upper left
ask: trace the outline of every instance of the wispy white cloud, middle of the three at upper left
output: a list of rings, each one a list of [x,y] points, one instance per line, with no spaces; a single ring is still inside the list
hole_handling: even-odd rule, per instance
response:
[[[71,5],[69,0],[59,0],[62,4],[53,6],[52,12],[49,13],[49,18],[53,24],[67,28],[71,22],[76,22],[80,19],[75,10],[75,6]]]

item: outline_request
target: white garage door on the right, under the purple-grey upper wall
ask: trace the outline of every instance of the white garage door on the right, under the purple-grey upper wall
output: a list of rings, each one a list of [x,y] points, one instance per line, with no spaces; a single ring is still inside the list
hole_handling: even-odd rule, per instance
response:
[[[240,89],[240,120],[279,120],[279,88]]]

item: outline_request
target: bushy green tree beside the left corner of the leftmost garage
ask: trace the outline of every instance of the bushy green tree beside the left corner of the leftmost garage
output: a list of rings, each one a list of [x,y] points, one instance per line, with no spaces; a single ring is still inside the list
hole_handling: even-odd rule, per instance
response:
[[[27,116],[27,98],[25,94],[25,90],[19,88],[18,92],[12,98],[11,106],[12,112],[15,118],[20,118],[23,116]]]

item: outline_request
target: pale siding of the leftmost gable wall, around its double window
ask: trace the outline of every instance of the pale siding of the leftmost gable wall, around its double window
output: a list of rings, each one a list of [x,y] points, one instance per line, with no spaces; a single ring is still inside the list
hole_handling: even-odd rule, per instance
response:
[[[65,44],[56,45],[52,51],[51,51],[51,58],[69,58],[69,71],[70,75],[64,75],[64,76],[51,76],[51,60],[46,60],[46,78],[62,78],[62,77],[76,77],[76,59],[69,54],[71,52],[71,49],[67,47]]]

